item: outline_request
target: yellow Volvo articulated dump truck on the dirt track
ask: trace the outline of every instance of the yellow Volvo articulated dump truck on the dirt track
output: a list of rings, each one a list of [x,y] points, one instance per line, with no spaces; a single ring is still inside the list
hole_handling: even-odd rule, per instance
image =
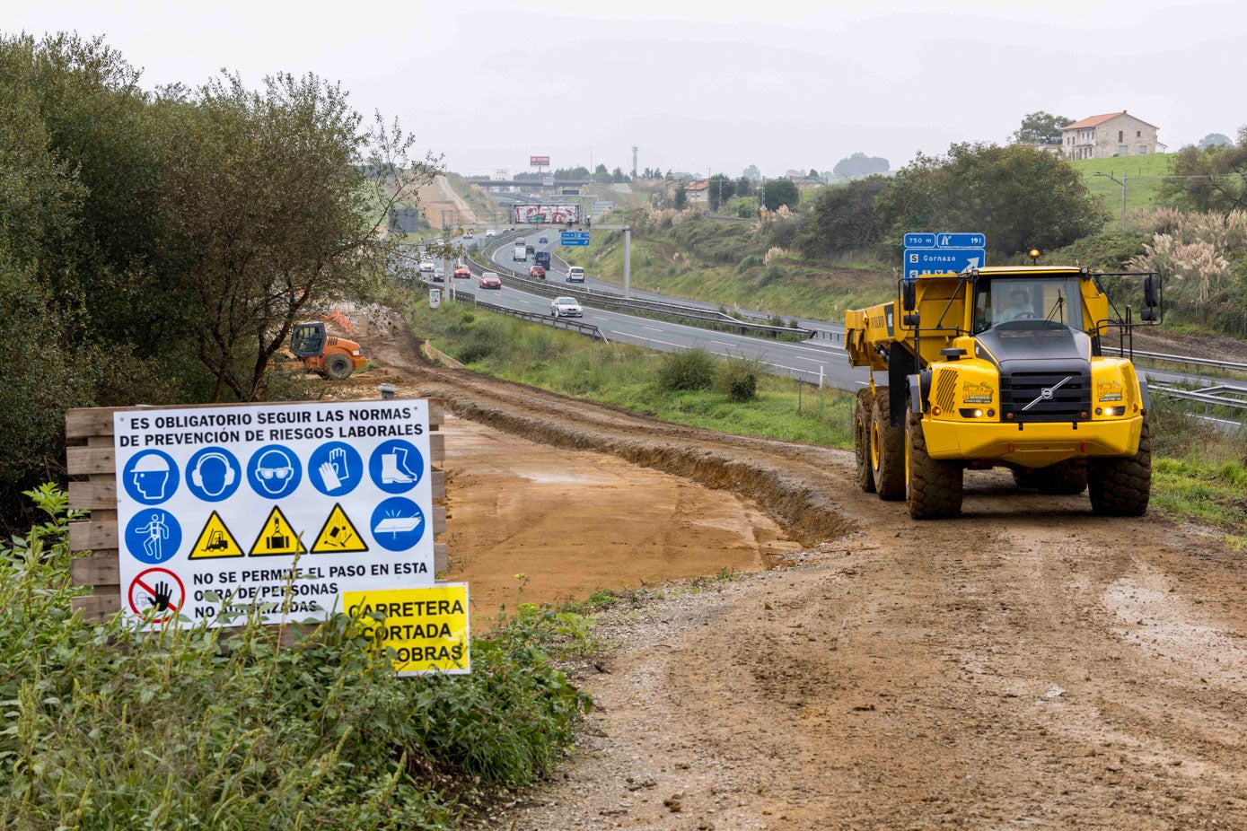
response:
[[[1139,323],[1105,285],[1140,294]],[[1127,355],[1160,305],[1156,274],[1018,265],[902,280],[895,302],[845,313],[849,363],[872,370],[854,414],[858,486],[904,498],[914,518],[950,517],[966,468],[1009,467],[1020,487],[1090,490],[1096,513],[1142,515],[1150,405]]]

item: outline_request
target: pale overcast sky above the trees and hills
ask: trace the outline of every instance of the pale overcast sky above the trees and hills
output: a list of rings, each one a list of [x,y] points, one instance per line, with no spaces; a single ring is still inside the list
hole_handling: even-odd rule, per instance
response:
[[[739,176],[899,168],[1021,117],[1129,110],[1170,151],[1247,123],[1242,0],[0,0],[0,29],[77,30],[143,71],[340,81],[449,169],[605,163]]]

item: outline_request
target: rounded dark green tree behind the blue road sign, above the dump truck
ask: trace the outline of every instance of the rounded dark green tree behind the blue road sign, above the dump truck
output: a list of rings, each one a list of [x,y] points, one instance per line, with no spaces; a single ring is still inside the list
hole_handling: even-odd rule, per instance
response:
[[[1051,250],[1099,230],[1102,203],[1070,164],[1023,145],[961,143],[889,179],[875,211],[899,242],[912,230],[974,230],[1000,255]]]

